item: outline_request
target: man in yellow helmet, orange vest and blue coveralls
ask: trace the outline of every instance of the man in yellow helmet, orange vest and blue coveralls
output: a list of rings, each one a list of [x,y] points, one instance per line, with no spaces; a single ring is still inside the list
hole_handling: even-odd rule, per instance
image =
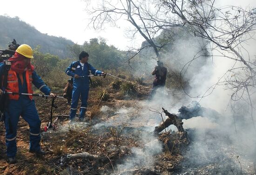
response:
[[[50,93],[50,89],[34,71],[34,66],[30,64],[33,58],[33,50],[29,45],[20,45],[12,58],[8,59],[11,63],[9,70],[5,63],[0,63],[0,76],[7,76],[6,83],[0,85],[0,95],[3,91],[33,93],[32,84],[46,95],[55,96]],[[6,85],[3,85],[6,84]],[[8,95],[7,106],[4,110],[4,124],[6,128],[7,161],[15,163],[17,144],[17,125],[19,118],[23,117],[30,127],[30,147],[29,152],[37,156],[45,155],[45,151],[40,148],[40,126],[41,121],[38,116],[32,96],[27,95]]]

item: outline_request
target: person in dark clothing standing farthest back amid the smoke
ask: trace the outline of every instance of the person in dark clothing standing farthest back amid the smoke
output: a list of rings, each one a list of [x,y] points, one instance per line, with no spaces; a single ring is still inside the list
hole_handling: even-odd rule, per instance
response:
[[[155,75],[155,80],[152,85],[152,89],[149,93],[148,100],[152,99],[155,95],[155,92],[158,88],[165,86],[167,69],[163,66],[163,62],[157,61],[157,66],[155,66],[155,70],[152,72],[152,75]]]

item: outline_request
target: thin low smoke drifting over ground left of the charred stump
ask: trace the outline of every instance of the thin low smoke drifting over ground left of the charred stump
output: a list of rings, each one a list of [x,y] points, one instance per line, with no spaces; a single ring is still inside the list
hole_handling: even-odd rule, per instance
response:
[[[129,128],[122,131],[122,134],[125,135],[130,134],[130,132],[136,133],[138,130],[140,131],[138,137],[142,143],[142,148],[131,148],[131,154],[123,158],[120,164],[114,167],[118,172],[151,167],[154,163],[154,156],[162,152],[162,143],[153,135],[155,126],[162,121],[161,117],[149,111],[147,103],[139,103],[139,101],[135,100],[130,103],[134,103],[135,106],[121,106],[116,111],[108,106],[102,106],[101,111],[106,114],[112,114],[112,116],[106,122],[94,125],[94,128],[98,130],[125,126]]]

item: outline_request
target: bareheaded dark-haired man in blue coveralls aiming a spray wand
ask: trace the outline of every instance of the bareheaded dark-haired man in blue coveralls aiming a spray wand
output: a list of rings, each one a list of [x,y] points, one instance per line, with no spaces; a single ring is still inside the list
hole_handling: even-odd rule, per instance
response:
[[[81,95],[81,107],[79,120],[84,121],[85,112],[87,110],[87,99],[89,93],[89,71],[94,75],[104,74],[102,71],[96,70],[92,65],[88,63],[89,54],[82,51],[79,54],[79,61],[74,61],[67,67],[66,74],[74,77],[73,79],[73,92],[72,92],[72,102],[70,109],[70,122],[74,121],[76,114],[77,104],[79,97]],[[85,76],[85,77],[83,77]]]

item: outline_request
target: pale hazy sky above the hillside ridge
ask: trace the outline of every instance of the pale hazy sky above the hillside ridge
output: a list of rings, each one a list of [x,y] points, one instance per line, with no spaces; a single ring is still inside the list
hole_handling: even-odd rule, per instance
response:
[[[18,16],[21,20],[34,26],[42,33],[71,39],[83,44],[91,38],[107,39],[108,45],[115,45],[121,50],[128,47],[140,47],[142,38],[131,41],[125,37],[124,25],[121,28],[108,27],[105,31],[94,31],[87,27],[88,14],[86,0],[1,0],[0,15]],[[87,0],[88,1],[88,0]],[[91,3],[102,0],[90,0]],[[219,0],[221,5],[256,6],[256,0]]]

